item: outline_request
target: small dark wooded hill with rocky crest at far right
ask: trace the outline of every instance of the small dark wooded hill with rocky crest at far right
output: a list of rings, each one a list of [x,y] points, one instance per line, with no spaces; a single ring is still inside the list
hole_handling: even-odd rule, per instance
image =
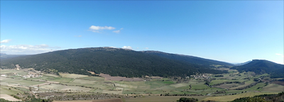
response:
[[[239,72],[255,72],[256,74],[271,74],[271,78],[284,77],[284,65],[270,62],[268,60],[252,60],[251,62],[231,67],[237,69]]]

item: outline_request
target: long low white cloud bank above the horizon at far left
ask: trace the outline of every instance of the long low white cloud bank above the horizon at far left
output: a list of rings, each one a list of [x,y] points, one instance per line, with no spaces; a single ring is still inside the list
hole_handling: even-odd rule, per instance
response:
[[[48,45],[1,45],[1,53],[9,55],[34,55],[44,52],[59,50],[60,47],[50,47]]]

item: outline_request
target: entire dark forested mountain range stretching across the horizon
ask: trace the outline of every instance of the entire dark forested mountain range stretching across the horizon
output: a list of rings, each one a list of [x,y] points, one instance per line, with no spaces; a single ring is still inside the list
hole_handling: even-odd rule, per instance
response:
[[[239,72],[268,73],[271,78],[284,77],[283,64],[252,60],[230,64],[189,55],[158,51],[134,51],[113,47],[89,47],[46,52],[38,55],[6,55],[1,53],[1,68],[35,68],[43,72],[87,74],[87,71],[121,77],[185,77],[197,73],[223,74],[212,65],[231,67]]]

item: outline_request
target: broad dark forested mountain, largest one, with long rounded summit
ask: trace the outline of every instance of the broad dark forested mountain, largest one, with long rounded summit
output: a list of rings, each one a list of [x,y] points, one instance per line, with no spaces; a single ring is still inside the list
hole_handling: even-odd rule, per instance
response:
[[[121,77],[145,75],[170,77],[189,76],[195,73],[225,73],[198,64],[112,47],[59,50],[1,60],[1,67],[14,68],[15,64],[19,64],[21,68],[34,68],[44,72],[90,74],[87,71],[91,71]]]

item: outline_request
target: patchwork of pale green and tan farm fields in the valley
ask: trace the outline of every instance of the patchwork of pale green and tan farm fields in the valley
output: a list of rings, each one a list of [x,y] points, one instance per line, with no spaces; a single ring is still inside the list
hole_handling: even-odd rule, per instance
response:
[[[1,74],[9,73],[27,74],[21,70],[2,69]],[[244,96],[255,96],[259,94],[275,94],[284,91],[284,86],[279,84],[265,84],[260,82],[255,86],[243,90],[234,90],[249,86],[254,83],[254,78],[267,76],[267,74],[254,75],[253,72],[239,73],[235,70],[224,77],[213,77],[214,80],[209,85],[219,84],[210,87],[202,79],[188,79],[187,81],[177,82],[174,79],[161,78],[144,81],[143,79],[119,81],[108,80],[104,77],[88,77],[80,74],[43,74],[43,77],[24,79],[22,77],[1,77],[0,94],[18,94],[23,91],[61,91],[61,92],[81,92],[81,93],[104,93],[104,94],[124,94],[124,95],[144,95],[144,98],[127,98],[125,101],[151,101],[152,98],[158,98],[160,101],[176,101],[180,96],[164,96],[167,94],[198,94],[195,96],[200,100],[211,101],[231,101],[234,98]],[[244,84],[230,83],[239,81]],[[37,87],[38,86],[38,87]],[[37,89],[39,88],[39,90]],[[282,90],[281,90],[282,89]],[[217,93],[226,91],[226,93]],[[246,92],[245,92],[246,91]],[[229,95],[235,94],[235,95]],[[162,96],[160,96],[162,95]],[[223,96],[226,95],[226,96]],[[188,97],[188,96],[187,96]],[[189,96],[192,97],[192,96]],[[170,99],[171,98],[171,99]]]

